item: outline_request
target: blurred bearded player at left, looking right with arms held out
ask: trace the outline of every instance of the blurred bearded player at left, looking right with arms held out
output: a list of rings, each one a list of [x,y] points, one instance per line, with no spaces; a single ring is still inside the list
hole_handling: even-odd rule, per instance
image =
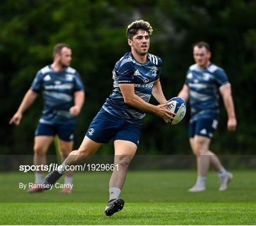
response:
[[[14,123],[18,126],[23,112],[42,91],[44,110],[35,132],[34,165],[46,164],[46,152],[55,135],[59,137],[63,160],[73,150],[76,116],[80,113],[84,102],[84,87],[79,73],[69,66],[71,55],[72,50],[68,45],[64,43],[55,45],[53,63],[37,72],[17,112],[9,121],[9,124]],[[35,172],[35,183],[27,192],[43,191],[44,177],[43,171]],[[69,186],[65,186],[62,193],[71,193],[72,171],[66,173],[64,184]]]

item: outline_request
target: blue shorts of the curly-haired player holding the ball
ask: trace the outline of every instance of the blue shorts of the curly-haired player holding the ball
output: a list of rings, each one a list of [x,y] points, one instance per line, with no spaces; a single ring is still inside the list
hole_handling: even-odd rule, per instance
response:
[[[141,125],[117,118],[104,109],[93,118],[86,132],[91,140],[97,143],[108,143],[110,139],[131,141],[138,146]]]

